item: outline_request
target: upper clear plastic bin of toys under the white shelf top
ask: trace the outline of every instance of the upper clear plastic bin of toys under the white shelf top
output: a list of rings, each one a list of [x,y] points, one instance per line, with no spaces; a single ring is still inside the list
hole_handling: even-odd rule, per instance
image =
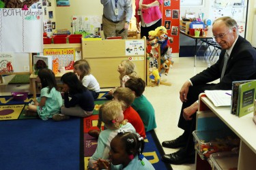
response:
[[[201,159],[208,159],[215,152],[238,148],[240,139],[232,131],[193,131],[195,150]]]

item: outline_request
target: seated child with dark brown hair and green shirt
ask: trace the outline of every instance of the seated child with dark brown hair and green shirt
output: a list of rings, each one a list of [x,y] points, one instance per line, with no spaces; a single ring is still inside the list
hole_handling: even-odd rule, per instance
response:
[[[135,99],[132,108],[141,116],[145,126],[145,131],[151,131],[156,128],[155,110],[150,101],[142,95],[145,90],[145,82],[141,78],[130,78],[125,86],[135,92]]]

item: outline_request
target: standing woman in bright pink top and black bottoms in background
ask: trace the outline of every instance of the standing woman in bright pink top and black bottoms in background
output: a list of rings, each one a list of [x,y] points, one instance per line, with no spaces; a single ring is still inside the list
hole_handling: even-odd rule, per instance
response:
[[[148,38],[148,32],[162,25],[162,13],[159,5],[162,0],[135,0],[135,18],[141,37]],[[141,24],[139,24],[141,22]]]

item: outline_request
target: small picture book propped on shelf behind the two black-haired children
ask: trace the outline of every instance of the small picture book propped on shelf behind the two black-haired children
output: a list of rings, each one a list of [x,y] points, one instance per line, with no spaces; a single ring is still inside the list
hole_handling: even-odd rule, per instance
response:
[[[33,73],[38,75],[40,69],[51,69],[53,70],[53,56],[33,56]]]

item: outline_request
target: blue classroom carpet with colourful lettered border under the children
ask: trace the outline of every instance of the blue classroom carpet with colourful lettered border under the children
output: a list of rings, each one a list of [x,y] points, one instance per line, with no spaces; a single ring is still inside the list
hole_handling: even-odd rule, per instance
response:
[[[105,95],[101,92],[95,101],[92,116],[61,122],[25,116],[32,95],[25,101],[0,97],[0,169],[87,169],[87,159],[97,147],[88,131],[97,129],[98,109],[106,102]],[[160,160],[164,151],[156,133],[150,131],[146,136],[143,154],[147,160],[155,169],[171,169]]]

